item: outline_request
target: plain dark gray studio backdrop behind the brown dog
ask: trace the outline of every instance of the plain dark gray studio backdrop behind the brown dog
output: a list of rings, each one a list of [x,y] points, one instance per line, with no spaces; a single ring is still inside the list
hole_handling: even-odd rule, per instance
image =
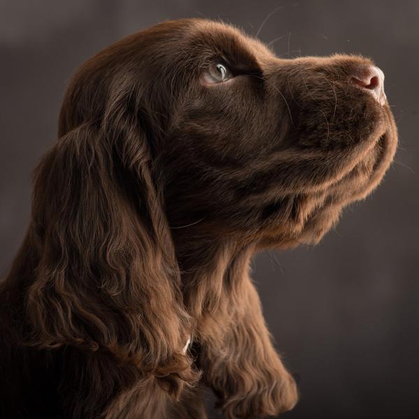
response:
[[[0,1],[0,276],[29,220],[30,174],[56,140],[71,74],[123,36],[221,18],[281,57],[354,52],[385,72],[396,161],[318,246],[258,256],[267,323],[301,400],[288,418],[419,417],[419,1]],[[214,415],[214,418],[216,416]]]

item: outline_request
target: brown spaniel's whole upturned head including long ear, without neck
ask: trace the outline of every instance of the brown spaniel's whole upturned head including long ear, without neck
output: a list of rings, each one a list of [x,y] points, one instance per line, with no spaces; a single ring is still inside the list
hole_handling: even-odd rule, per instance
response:
[[[87,61],[59,137],[35,177],[38,340],[106,347],[163,376],[184,365],[178,247],[316,242],[374,189],[397,142],[369,59],[279,59],[206,20]]]

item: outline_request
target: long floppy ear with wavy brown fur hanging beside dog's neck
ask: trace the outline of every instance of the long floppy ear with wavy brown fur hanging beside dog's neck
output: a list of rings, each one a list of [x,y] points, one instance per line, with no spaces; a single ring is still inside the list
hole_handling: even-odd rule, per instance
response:
[[[138,110],[114,99],[100,123],[71,128],[35,170],[31,344],[108,353],[176,391],[196,378],[183,351],[189,316]]]

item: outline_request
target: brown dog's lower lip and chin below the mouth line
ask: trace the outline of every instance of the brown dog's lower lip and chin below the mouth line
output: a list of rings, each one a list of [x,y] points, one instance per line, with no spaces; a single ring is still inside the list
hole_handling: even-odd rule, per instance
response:
[[[314,245],[320,242],[328,231],[339,221],[339,216],[346,207],[355,201],[362,200],[371,193],[383,179],[388,170],[397,147],[397,131],[391,113],[387,112],[385,130],[376,133],[369,142],[374,146],[354,168],[349,170],[339,182],[331,184],[320,192],[308,194],[311,198],[300,198],[300,214],[284,221],[266,225],[260,235],[258,249],[289,249],[300,244]]]

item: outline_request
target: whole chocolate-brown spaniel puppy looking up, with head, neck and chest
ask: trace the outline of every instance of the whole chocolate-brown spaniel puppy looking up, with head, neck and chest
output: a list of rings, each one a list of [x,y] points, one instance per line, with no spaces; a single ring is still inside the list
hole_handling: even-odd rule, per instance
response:
[[[220,22],[128,36],[70,83],[0,288],[1,418],[276,416],[297,390],[249,277],[316,243],[397,145],[383,73]]]

